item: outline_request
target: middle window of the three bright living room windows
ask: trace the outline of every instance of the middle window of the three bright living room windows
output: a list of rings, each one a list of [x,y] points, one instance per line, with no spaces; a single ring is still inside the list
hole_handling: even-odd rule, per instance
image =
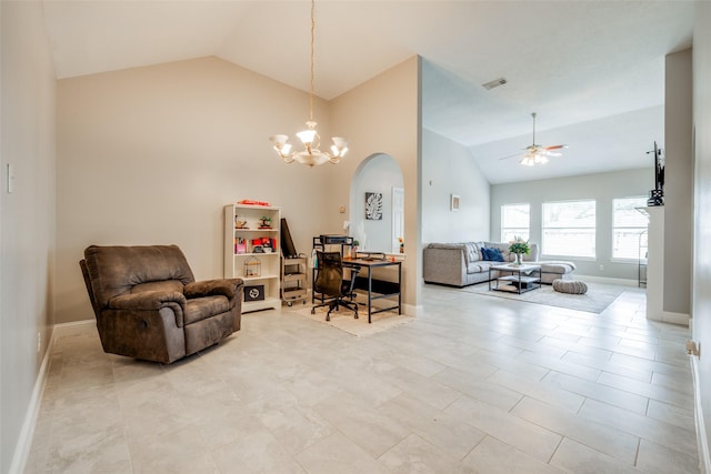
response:
[[[595,258],[595,201],[543,203],[542,253]]]

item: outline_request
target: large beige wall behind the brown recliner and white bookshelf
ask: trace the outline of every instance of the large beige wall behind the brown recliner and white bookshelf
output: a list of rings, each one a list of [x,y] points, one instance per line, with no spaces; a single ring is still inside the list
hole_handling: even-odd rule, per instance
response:
[[[59,81],[57,322],[93,317],[78,265],[92,243],[176,243],[198,280],[222,276],[222,208],[240,199],[281,206],[310,252],[332,170],[286,164],[268,140],[293,138],[308,104],[217,58]]]

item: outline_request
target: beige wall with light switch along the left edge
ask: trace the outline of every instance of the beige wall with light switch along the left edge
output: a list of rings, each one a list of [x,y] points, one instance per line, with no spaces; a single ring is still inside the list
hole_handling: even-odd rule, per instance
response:
[[[41,4],[2,1],[0,17],[0,472],[7,473],[29,448],[22,427],[30,426],[52,324],[56,81]]]

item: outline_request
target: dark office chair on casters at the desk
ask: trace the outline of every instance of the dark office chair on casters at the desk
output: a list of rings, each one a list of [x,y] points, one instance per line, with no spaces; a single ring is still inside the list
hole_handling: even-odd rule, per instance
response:
[[[329,306],[326,314],[326,321],[331,321],[331,311],[338,311],[339,306],[347,307],[356,313],[353,317],[358,319],[358,303],[353,301],[353,286],[356,285],[356,275],[360,270],[358,265],[349,265],[350,278],[344,279],[343,262],[341,261],[341,252],[321,252],[317,251],[319,266],[316,276],[313,291],[329,296],[329,300],[322,304],[317,304],[311,309],[311,314],[316,313],[317,307]]]

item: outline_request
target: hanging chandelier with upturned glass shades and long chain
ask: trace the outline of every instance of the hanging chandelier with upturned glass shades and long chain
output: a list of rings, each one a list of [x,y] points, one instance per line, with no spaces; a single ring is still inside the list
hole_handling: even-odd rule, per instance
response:
[[[301,164],[306,164],[313,168],[326,162],[338,163],[341,158],[346,155],[348,151],[348,142],[341,137],[333,137],[333,144],[331,145],[331,152],[321,151],[321,138],[316,130],[316,121],[313,120],[313,37],[316,30],[316,21],[313,19],[314,0],[311,0],[311,94],[309,97],[309,120],[307,121],[307,130],[297,133],[299,140],[303,143],[303,150],[291,151],[291,144],[287,143],[288,135],[273,135],[269,140],[274,143],[274,150],[279,153],[279,157],[287,162],[293,163],[298,161]]]

